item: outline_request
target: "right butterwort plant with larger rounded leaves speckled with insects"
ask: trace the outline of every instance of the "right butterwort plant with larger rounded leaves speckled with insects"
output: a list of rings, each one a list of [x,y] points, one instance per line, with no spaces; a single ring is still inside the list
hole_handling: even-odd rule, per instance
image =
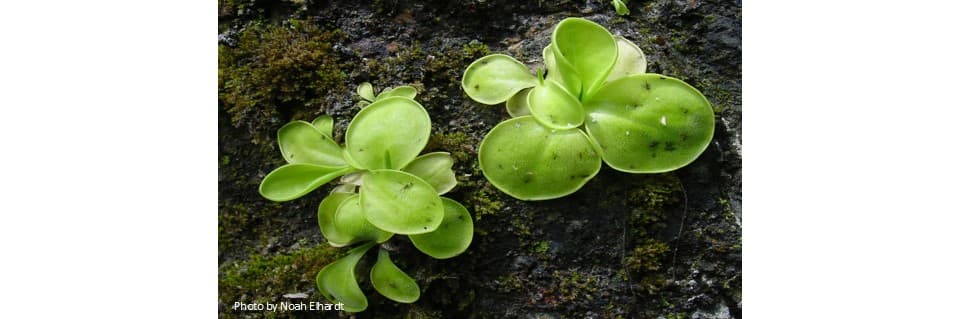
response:
[[[713,138],[713,108],[681,80],[645,73],[643,51],[581,18],[560,21],[543,50],[546,74],[491,54],[467,67],[474,101],[506,102],[511,119],[479,148],[480,169],[522,200],[569,195],[600,171],[660,173],[693,162]]]

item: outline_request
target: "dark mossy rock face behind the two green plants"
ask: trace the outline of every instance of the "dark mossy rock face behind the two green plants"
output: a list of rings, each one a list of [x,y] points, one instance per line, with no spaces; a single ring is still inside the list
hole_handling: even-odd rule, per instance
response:
[[[369,81],[420,91],[433,120],[426,151],[454,155],[460,184],[448,196],[470,210],[476,231],[469,250],[447,260],[396,236],[394,261],[419,282],[421,298],[397,304],[361,278],[370,307],[357,317],[739,318],[739,1],[627,5],[631,14],[618,16],[608,1],[221,0],[220,317],[345,316],[232,305],[324,301],[314,276],[345,253],[317,226],[330,186],[284,203],[260,197],[257,187],[283,161],[280,126],[330,114],[342,141],[359,110],[353,90]],[[648,72],[700,89],[716,110],[714,141],[672,173],[604,167],[568,197],[518,201],[483,178],[476,157],[486,132],[509,115],[466,97],[460,77],[493,52],[538,66],[551,28],[574,16],[636,42]]]

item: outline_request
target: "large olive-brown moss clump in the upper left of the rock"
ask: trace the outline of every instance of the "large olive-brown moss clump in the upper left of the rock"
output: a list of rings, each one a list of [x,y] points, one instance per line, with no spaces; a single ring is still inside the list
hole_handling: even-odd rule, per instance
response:
[[[231,123],[250,132],[274,132],[273,126],[293,117],[297,108],[322,111],[324,99],[344,89],[346,74],[332,49],[343,37],[337,30],[291,20],[254,23],[240,32],[235,46],[221,44],[219,97]]]

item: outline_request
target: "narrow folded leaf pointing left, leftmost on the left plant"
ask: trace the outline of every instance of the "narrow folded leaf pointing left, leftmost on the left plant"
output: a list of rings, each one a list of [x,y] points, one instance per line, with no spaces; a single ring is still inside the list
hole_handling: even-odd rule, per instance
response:
[[[276,202],[297,199],[352,170],[350,167],[342,166],[283,165],[263,178],[260,183],[260,195]]]

